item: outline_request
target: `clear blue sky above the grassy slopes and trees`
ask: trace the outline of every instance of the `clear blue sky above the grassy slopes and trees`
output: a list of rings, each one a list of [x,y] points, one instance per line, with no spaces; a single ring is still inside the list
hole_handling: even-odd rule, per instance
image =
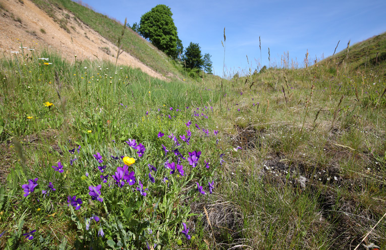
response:
[[[167,5],[184,48],[199,43],[202,55],[212,57],[216,75],[223,75],[225,27],[225,74],[252,72],[270,61],[280,66],[284,53],[303,66],[308,49],[310,57],[331,56],[386,31],[386,1],[123,1],[82,0],[99,13],[124,22],[139,24],[141,16],[158,4]],[[259,36],[262,60],[260,62]],[[249,65],[247,58],[249,59]]]

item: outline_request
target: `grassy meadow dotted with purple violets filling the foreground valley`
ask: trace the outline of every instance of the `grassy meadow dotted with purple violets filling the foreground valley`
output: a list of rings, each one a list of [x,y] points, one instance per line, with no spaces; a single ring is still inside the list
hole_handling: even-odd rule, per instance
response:
[[[0,248],[385,248],[386,81],[361,49],[199,82],[2,59]]]

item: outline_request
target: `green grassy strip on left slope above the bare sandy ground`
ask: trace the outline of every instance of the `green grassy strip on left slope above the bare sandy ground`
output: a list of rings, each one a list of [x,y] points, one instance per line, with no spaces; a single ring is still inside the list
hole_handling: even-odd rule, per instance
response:
[[[118,45],[118,37],[121,36],[122,24],[117,21],[70,0],[33,0],[32,2],[47,12],[54,20],[56,19],[56,12],[66,9],[73,13],[74,16],[85,25]],[[58,20],[58,22],[60,22],[60,20]],[[70,29],[68,30],[70,31]],[[172,59],[160,52],[155,46],[147,42],[130,28],[126,30],[122,39],[122,49],[164,76],[172,74],[176,77],[183,78],[174,66],[176,63]]]

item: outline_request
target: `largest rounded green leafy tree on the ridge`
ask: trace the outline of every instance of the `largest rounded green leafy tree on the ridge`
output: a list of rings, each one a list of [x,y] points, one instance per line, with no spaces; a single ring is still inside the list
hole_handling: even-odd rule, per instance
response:
[[[168,6],[157,5],[142,15],[138,32],[160,51],[176,58],[177,27],[174,25],[172,15]]]

